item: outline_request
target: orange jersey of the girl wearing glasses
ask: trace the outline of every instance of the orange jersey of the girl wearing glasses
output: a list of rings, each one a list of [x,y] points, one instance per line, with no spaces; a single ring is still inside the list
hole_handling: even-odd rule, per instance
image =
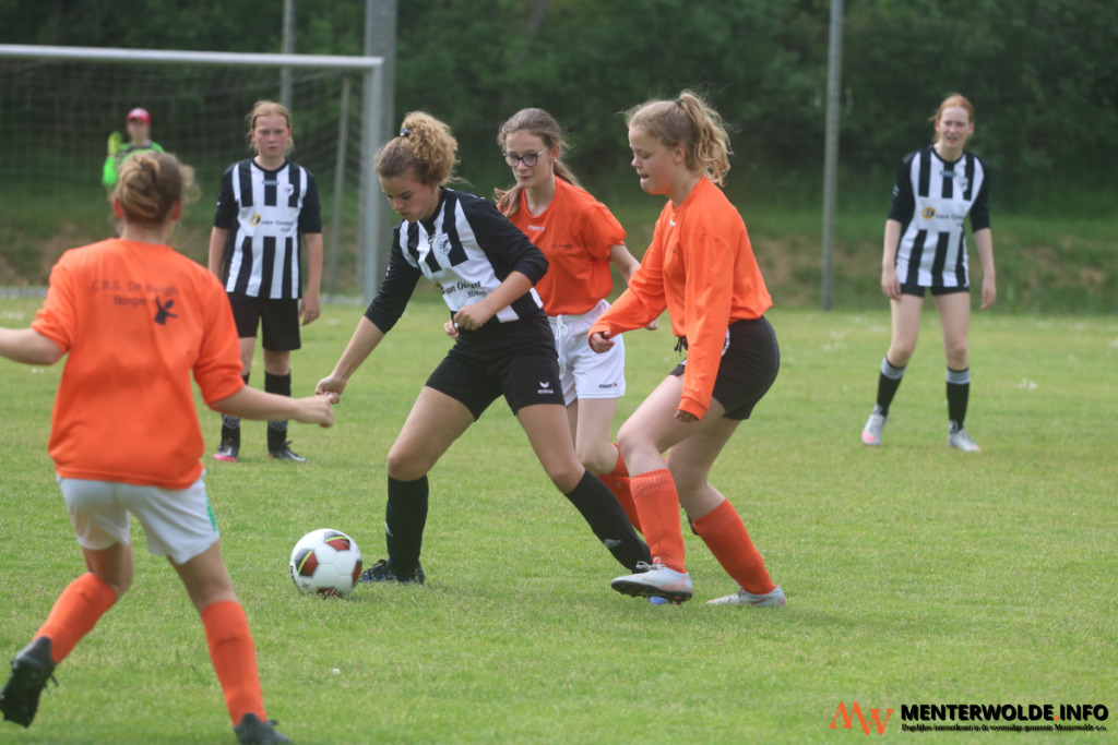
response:
[[[625,228],[589,192],[557,178],[542,214],[529,213],[521,192],[520,209],[509,219],[548,259],[536,292],[549,316],[587,313],[613,290],[609,249],[625,240]]]

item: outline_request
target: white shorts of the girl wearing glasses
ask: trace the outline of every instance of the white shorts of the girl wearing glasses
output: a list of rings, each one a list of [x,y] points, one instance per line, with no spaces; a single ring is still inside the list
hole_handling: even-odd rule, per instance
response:
[[[563,403],[575,399],[619,399],[625,395],[625,343],[614,336],[614,346],[605,354],[590,348],[586,334],[609,303],[601,299],[589,313],[548,316],[559,353],[559,382]]]

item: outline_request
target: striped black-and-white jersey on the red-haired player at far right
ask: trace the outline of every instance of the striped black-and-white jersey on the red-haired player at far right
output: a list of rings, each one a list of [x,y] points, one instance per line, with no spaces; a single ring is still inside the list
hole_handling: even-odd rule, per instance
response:
[[[989,227],[988,171],[980,157],[964,151],[947,163],[934,145],[904,156],[889,210],[903,226],[896,265],[902,285],[969,286],[968,212],[972,230]]]

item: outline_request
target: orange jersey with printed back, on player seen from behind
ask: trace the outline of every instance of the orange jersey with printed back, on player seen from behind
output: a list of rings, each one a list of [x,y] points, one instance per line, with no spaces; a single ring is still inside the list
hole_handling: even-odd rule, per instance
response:
[[[66,251],[31,327],[69,356],[51,417],[65,478],[182,489],[201,476],[190,375],[207,402],[238,392],[225,289],[169,246],[119,239]]]

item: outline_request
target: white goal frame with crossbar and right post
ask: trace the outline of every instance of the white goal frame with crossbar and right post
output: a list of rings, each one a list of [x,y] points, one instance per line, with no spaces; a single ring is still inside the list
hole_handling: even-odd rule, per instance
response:
[[[358,258],[361,261],[361,287],[364,300],[376,295],[382,268],[380,252],[383,200],[373,188],[372,156],[383,137],[381,116],[376,106],[385,108],[385,58],[333,55],[274,55],[234,51],[186,51],[172,49],[120,49],[108,47],[56,47],[47,45],[0,44],[0,58],[59,59],[98,63],[132,63],[145,65],[214,65],[229,67],[320,68],[361,73],[361,169],[359,175]]]

